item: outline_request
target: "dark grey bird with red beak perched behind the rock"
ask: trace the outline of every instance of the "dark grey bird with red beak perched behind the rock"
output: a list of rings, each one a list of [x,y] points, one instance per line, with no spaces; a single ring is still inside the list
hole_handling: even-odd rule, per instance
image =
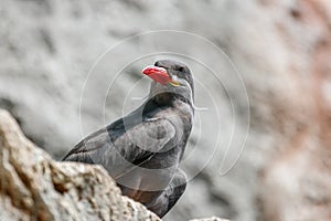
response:
[[[102,165],[122,194],[162,218],[186,188],[180,162],[192,130],[194,83],[188,65],[160,60],[142,74],[152,80],[146,101],[90,134],[63,161]]]

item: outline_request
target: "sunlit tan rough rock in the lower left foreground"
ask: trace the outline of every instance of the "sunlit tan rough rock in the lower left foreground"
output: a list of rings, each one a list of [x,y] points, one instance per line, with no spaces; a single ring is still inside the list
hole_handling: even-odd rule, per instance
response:
[[[99,166],[56,162],[0,110],[0,220],[160,220]]]

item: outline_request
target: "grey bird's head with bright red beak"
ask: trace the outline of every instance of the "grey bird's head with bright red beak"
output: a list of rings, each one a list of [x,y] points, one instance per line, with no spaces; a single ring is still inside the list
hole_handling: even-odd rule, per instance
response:
[[[173,98],[193,104],[193,77],[186,65],[171,60],[161,60],[154,65],[145,67],[142,73],[153,80],[149,96],[160,105],[168,104]]]

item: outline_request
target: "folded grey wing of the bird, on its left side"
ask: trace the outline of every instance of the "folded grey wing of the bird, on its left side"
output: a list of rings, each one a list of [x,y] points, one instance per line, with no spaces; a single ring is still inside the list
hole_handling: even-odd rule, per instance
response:
[[[100,164],[110,175],[122,173],[160,151],[174,136],[175,127],[166,118],[151,118],[135,126],[100,129],[75,146],[64,158],[66,161]]]

